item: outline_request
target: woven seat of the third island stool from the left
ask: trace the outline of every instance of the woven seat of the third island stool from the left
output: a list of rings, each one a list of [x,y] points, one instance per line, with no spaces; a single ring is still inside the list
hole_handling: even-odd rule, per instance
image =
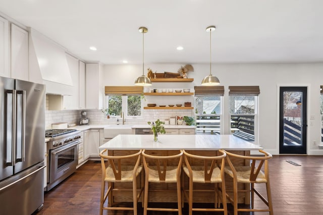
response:
[[[221,183],[221,171],[219,167],[213,169],[210,182],[204,180],[204,167],[203,166],[191,166],[193,172],[193,182],[195,183]],[[186,166],[183,167],[186,175],[189,175],[189,170]]]

